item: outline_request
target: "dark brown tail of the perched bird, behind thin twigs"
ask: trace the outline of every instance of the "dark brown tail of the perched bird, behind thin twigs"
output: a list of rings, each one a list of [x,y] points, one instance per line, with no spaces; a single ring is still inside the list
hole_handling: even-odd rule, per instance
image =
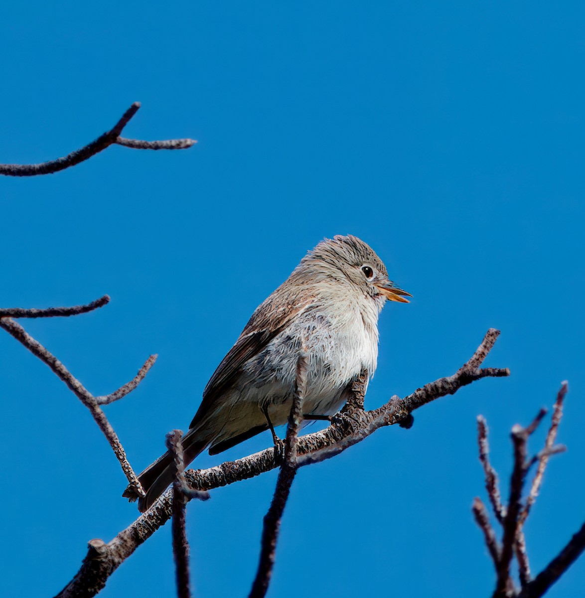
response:
[[[197,438],[194,432],[198,432],[197,428],[191,429],[182,438],[185,467],[209,444],[209,441]],[[169,451],[151,463],[138,476],[138,479],[146,492],[146,496],[138,501],[138,510],[144,513],[175,479],[175,466]],[[124,490],[122,496],[129,498],[130,501],[135,501],[138,498],[135,490],[130,486]]]

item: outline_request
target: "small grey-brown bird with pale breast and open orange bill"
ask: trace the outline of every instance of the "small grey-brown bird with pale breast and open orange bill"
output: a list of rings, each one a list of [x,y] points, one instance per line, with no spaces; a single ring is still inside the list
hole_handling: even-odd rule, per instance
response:
[[[257,309],[203,390],[203,400],[182,437],[184,464],[203,450],[215,455],[261,432],[287,423],[297,359],[306,358],[304,420],[337,413],[352,382],[376,371],[378,316],[386,301],[412,297],[388,277],[382,260],[351,234],[324,239]],[[123,496],[148,509],[173,482],[167,451]]]

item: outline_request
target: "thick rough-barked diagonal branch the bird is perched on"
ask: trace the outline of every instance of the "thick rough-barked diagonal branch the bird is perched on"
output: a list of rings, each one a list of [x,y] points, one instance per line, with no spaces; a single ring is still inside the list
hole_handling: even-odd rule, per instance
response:
[[[435,380],[403,399],[393,396],[385,405],[372,411],[364,411],[358,405],[346,405],[332,418],[328,428],[298,438],[297,466],[309,465],[315,460],[334,456],[383,426],[404,425],[405,422],[410,422],[413,410],[441,396],[453,394],[474,380],[490,376],[508,376],[510,371],[507,368],[480,368],[498,334],[499,331],[490,328],[471,359],[453,376]],[[275,469],[282,464],[282,458],[282,452],[270,448],[243,459],[222,463],[217,467],[190,469],[185,472],[185,478],[193,489],[212,490]],[[109,575],[164,525],[171,514],[172,491],[167,490],[150,509],[118,533],[108,544],[102,542],[99,558],[95,556],[95,547],[90,545],[80,570],[58,594],[59,598],[80,596],[82,591],[83,596],[95,596],[103,588]]]

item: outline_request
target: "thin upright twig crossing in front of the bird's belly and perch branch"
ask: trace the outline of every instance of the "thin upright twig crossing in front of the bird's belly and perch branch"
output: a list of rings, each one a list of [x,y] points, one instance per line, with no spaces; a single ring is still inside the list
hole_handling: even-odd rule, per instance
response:
[[[281,471],[278,474],[278,480],[276,480],[276,489],[272,497],[272,503],[264,516],[260,560],[249,598],[263,598],[266,596],[270,578],[272,578],[276,542],[278,541],[278,532],[281,527],[282,513],[287,504],[292,480],[294,480],[297,473],[298,431],[303,420],[303,399],[306,386],[307,356],[304,352],[301,352],[297,359],[294,395],[292,397],[291,413],[288,417],[287,437],[284,443],[284,460],[281,465]]]

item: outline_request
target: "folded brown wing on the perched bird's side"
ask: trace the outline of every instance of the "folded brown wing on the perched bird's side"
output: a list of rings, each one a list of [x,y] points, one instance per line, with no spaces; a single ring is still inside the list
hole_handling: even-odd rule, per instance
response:
[[[287,281],[288,282],[288,281]],[[214,402],[229,390],[239,378],[243,365],[260,353],[267,344],[291,323],[299,313],[313,302],[306,289],[293,288],[287,283],[279,286],[252,314],[236,344],[218,365],[214,375],[203,390],[203,401],[193,417],[190,428],[196,426],[208,413]]]

